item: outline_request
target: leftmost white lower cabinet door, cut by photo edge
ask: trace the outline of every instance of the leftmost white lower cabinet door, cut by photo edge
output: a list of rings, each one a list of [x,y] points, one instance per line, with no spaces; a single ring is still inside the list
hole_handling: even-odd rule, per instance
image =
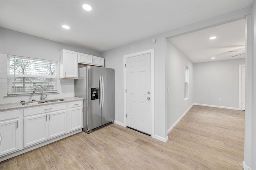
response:
[[[20,149],[20,131],[18,123],[19,119],[12,119],[0,123],[0,131],[2,133],[0,155]]]

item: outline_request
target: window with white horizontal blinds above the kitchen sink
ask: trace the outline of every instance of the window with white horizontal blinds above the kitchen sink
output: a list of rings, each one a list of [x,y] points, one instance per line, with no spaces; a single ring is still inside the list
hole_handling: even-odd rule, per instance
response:
[[[8,55],[8,95],[29,94],[41,85],[44,92],[57,92],[57,62]],[[37,88],[36,92],[41,92]]]

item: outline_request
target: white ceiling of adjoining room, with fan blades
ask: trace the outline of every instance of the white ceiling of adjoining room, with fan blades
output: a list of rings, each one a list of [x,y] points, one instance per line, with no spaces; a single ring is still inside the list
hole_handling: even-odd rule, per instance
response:
[[[209,39],[212,36],[217,38]],[[226,23],[169,40],[193,63],[245,58],[243,54],[245,53],[245,20]],[[212,57],[215,59],[211,59]]]

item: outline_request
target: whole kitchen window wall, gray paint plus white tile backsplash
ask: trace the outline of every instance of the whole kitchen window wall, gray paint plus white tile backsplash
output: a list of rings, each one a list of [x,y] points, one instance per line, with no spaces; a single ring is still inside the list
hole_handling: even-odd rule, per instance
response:
[[[100,53],[83,47],[74,47],[71,45],[51,41],[48,39],[35,37],[25,33],[12,31],[0,27],[0,53],[5,54],[0,57],[0,103],[20,102],[21,100],[39,100],[40,96],[19,96],[8,97],[7,95],[7,54],[18,55],[22,57],[31,57],[36,59],[46,59],[59,61],[59,51],[67,49],[90,55],[100,56]],[[58,71],[59,72],[59,71]],[[47,98],[62,98],[74,96],[74,80],[58,79],[59,94],[48,94]]]

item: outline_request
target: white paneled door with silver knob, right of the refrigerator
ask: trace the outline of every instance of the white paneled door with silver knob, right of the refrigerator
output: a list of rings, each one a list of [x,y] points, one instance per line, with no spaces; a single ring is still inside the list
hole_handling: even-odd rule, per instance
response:
[[[151,135],[150,53],[126,58],[126,126]]]

